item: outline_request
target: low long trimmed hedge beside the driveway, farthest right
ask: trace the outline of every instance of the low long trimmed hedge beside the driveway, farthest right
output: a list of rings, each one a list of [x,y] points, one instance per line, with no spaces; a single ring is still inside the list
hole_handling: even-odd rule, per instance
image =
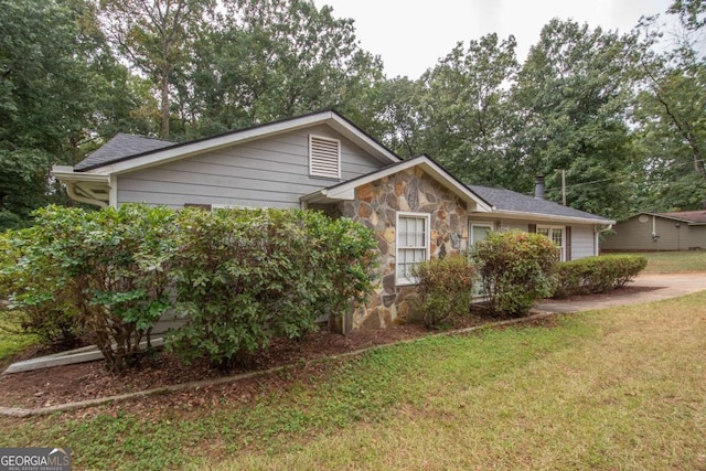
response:
[[[554,298],[606,292],[624,286],[648,265],[639,255],[601,255],[557,264]]]

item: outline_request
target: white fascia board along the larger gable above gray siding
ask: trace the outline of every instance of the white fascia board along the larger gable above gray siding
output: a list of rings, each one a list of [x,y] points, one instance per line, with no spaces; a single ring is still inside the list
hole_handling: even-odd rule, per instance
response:
[[[343,135],[345,138],[361,146],[373,157],[383,162],[395,163],[399,161],[397,156],[389,152],[375,140],[365,136],[351,124],[340,118],[336,114],[332,111],[324,111],[315,115],[289,119],[286,121],[258,126],[242,131],[234,131],[223,136],[205,138],[192,143],[184,143],[178,147],[169,147],[163,150],[150,152],[147,156],[101,165],[94,170],[88,170],[86,173],[99,172],[108,174],[120,174],[131,172],[135,170],[146,169],[174,160],[185,159],[188,157],[196,156],[212,150],[223,149],[229,146],[240,144],[252,140],[271,137],[284,132],[291,132],[302,128],[309,128],[323,124],[328,124],[333,129],[341,132],[341,135]]]

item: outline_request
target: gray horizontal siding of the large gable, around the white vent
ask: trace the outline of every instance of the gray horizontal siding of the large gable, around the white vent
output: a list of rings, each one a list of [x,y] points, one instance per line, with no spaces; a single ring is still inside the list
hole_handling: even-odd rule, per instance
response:
[[[120,175],[118,204],[299,207],[302,195],[339,182],[309,176],[310,133],[341,140],[342,180],[383,167],[329,127],[319,126]]]

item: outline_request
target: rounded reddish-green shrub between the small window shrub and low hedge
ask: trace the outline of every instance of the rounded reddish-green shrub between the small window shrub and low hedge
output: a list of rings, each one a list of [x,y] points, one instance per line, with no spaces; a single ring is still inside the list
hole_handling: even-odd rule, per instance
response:
[[[557,246],[547,237],[521,231],[491,232],[475,244],[473,259],[493,311],[526,315],[537,299],[552,293]]]

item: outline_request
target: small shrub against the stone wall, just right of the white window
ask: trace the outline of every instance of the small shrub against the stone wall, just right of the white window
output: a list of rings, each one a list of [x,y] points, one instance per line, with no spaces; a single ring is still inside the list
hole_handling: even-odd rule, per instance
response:
[[[427,328],[468,314],[475,269],[462,255],[434,258],[415,265],[421,319]]]

